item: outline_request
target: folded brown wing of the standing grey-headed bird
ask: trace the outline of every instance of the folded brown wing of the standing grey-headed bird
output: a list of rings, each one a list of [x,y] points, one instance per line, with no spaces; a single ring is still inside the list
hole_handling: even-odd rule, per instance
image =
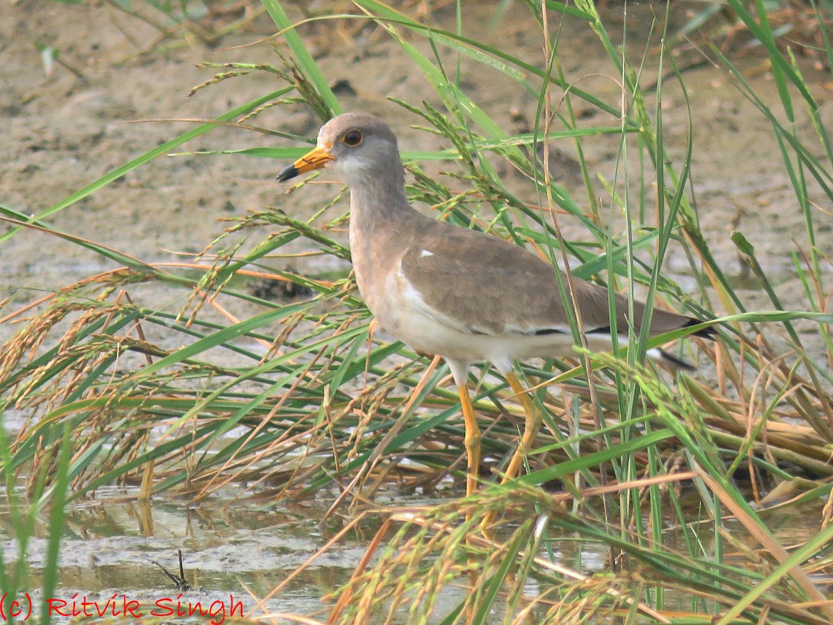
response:
[[[555,269],[523,248],[447,223],[425,222],[402,256],[402,273],[437,318],[483,334],[570,333]],[[610,331],[607,290],[573,278],[586,333]],[[634,303],[636,332],[644,304]],[[627,299],[616,295],[617,329],[627,328]],[[697,323],[655,310],[651,333]]]

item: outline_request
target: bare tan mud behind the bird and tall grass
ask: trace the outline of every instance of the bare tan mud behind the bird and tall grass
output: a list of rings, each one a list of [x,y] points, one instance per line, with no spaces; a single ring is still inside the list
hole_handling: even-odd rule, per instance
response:
[[[427,18],[453,28],[453,14],[447,11],[436,11]],[[482,36],[489,18],[489,3],[474,3],[465,28]],[[611,23],[615,22],[611,18]],[[195,67],[199,62],[278,64],[268,45],[235,47],[271,34],[273,27],[269,24],[264,16],[256,18],[247,27],[222,37],[216,47],[207,47],[196,37],[183,37],[182,32],[153,47],[157,31],[111,7],[17,2],[12,10],[3,11],[0,112],[7,121],[3,141],[7,158],[0,164],[0,202],[22,213],[40,213],[194,126],[194,122],[164,120],[215,117],[272,90],[276,86],[274,77],[253,72],[187,97],[192,86],[215,71]],[[419,120],[386,100],[400,97],[414,103],[437,103],[430,85],[414,71],[402,49],[377,28],[335,33],[327,28],[327,23],[318,23],[305,27],[304,34],[325,75],[333,82],[349,82],[357,92],[343,97],[345,108],[370,110],[387,117],[400,134],[402,148],[443,147],[432,135],[410,128]],[[638,30],[638,21],[631,28]],[[620,95],[617,79],[609,75],[603,51],[587,30],[564,29],[561,63],[576,84],[616,102]],[[507,14],[500,28],[486,37],[499,42],[507,52],[541,65],[541,42],[526,37],[529,32],[535,32],[532,18],[518,10]],[[58,50],[59,60],[74,72],[56,66],[52,76],[46,76],[35,42]],[[771,77],[761,62],[753,57],[745,64],[746,78],[756,92],[776,103]],[[821,74],[819,82],[813,82],[813,72],[811,67],[806,68],[806,77],[822,102],[825,117],[831,117],[831,93],[827,83],[821,81]],[[644,82],[656,80],[651,70],[644,73]],[[505,128],[512,128],[513,109],[523,112],[527,119],[533,116],[533,98],[507,90],[505,78],[497,72],[483,71],[482,66],[463,58],[461,74],[466,92],[496,120],[505,122]],[[769,124],[714,67],[686,72],[686,89],[694,132],[692,179],[702,227],[712,250],[729,273],[738,270],[736,251],[728,238],[734,224],[756,246],[766,268],[782,275],[787,302],[799,302],[801,293],[795,293],[797,299],[791,297],[789,283],[791,255],[796,250],[793,241],[806,240],[804,220]],[[666,82],[664,109],[666,146],[673,157],[681,158],[689,110],[672,81]],[[142,120],[157,121],[139,122]],[[596,115],[590,123],[615,121]],[[302,107],[279,107],[263,113],[255,122],[311,137],[319,124]],[[806,122],[802,127],[801,123],[799,133],[810,137],[811,127]],[[217,128],[179,151],[250,148],[279,141],[233,128]],[[616,175],[616,141],[598,138],[586,143],[591,168],[607,180]],[[571,147],[564,146],[563,150],[569,153]],[[172,260],[177,258],[174,252],[205,248],[222,231],[218,218],[267,205],[309,214],[315,201],[311,194],[302,198],[297,194],[284,196],[285,188],[273,182],[282,164],[222,156],[157,158],[61,210],[47,222],[147,262]],[[566,183],[569,186],[569,179]],[[599,199],[606,206],[603,194]],[[339,210],[343,208],[342,204]],[[816,235],[822,251],[830,253],[833,218],[829,210],[821,209],[816,213]],[[16,291],[18,301],[32,297],[21,288],[56,288],[107,264],[77,245],[32,231],[18,233],[0,249],[2,286]],[[750,293],[749,297],[754,307],[757,296]]]

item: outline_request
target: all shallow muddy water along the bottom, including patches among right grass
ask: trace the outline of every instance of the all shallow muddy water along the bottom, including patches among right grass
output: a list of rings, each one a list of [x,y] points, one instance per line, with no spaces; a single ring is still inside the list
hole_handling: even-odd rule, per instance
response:
[[[144,617],[177,617],[177,622],[218,623],[232,616],[262,616],[265,612],[317,615],[323,619],[332,604],[322,602],[322,597],[349,580],[377,527],[365,524],[343,537],[277,597],[258,607],[258,600],[267,597],[278,583],[307,562],[337,527],[332,523],[331,527],[321,527],[318,519],[326,507],[316,502],[277,505],[236,501],[224,505],[234,494],[231,490],[218,493],[198,505],[159,497],[140,503],[135,500],[135,491],[111,488],[99,491],[95,501],[72,504],[63,528],[60,583],[53,596],[48,597],[52,599],[55,622],[68,622],[67,615],[73,609],[76,615],[85,610],[87,614],[102,610],[110,616],[115,612],[117,617],[132,618],[138,613]],[[698,516],[695,510],[691,511],[691,518]],[[776,537],[789,546],[814,536],[819,530],[820,516],[818,504],[801,511],[771,513],[768,522]],[[42,584],[47,537],[46,520],[41,521],[27,546],[30,588]],[[706,523],[703,527],[700,540],[709,549],[712,526]],[[736,537],[746,535],[736,522],[727,522],[726,530]],[[12,533],[10,512],[4,503],[0,507],[0,544],[3,561],[7,563],[18,555]],[[666,544],[684,551],[682,542],[676,544],[675,535],[671,530]],[[561,538],[554,543],[558,562],[587,573],[606,569],[605,547]],[[754,541],[749,544],[756,547]],[[177,589],[154,563],[177,575],[177,550],[182,550],[185,578],[191,587],[184,591]],[[461,592],[453,586],[444,592],[436,613],[451,610],[461,599]],[[541,589],[529,587],[527,592],[535,596]],[[40,592],[34,590],[30,597],[37,612]],[[20,601],[26,605],[25,597],[20,597]],[[666,597],[666,607],[673,607],[672,596]],[[183,616],[189,609],[197,610],[190,619]]]

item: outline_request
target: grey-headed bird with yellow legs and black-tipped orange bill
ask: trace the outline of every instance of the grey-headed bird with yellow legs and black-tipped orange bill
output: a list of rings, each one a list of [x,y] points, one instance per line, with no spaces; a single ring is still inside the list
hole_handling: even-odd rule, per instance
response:
[[[466,494],[476,492],[481,436],[466,387],[471,363],[487,361],[522,403],[526,395],[512,363],[524,358],[575,354],[573,303],[561,298],[551,263],[486,233],[420,213],[405,193],[405,168],[396,135],[380,117],[346,112],[318,133],[316,147],[277,175],[286,182],[330,168],[350,188],[350,251],[359,293],[377,323],[416,352],[439,355],[451,369],[466,426]],[[561,273],[561,280],[566,275]],[[562,282],[563,283],[563,282]],[[592,351],[611,351],[608,289],[571,278],[575,310]],[[627,342],[641,333],[646,304],[615,293],[616,330]],[[569,309],[569,310],[568,310]],[[701,324],[654,309],[651,336]],[[714,338],[713,328],[695,336]],[[681,362],[661,353],[672,365]],[[513,478],[532,448],[542,418],[528,401],[525,430],[504,472]]]

